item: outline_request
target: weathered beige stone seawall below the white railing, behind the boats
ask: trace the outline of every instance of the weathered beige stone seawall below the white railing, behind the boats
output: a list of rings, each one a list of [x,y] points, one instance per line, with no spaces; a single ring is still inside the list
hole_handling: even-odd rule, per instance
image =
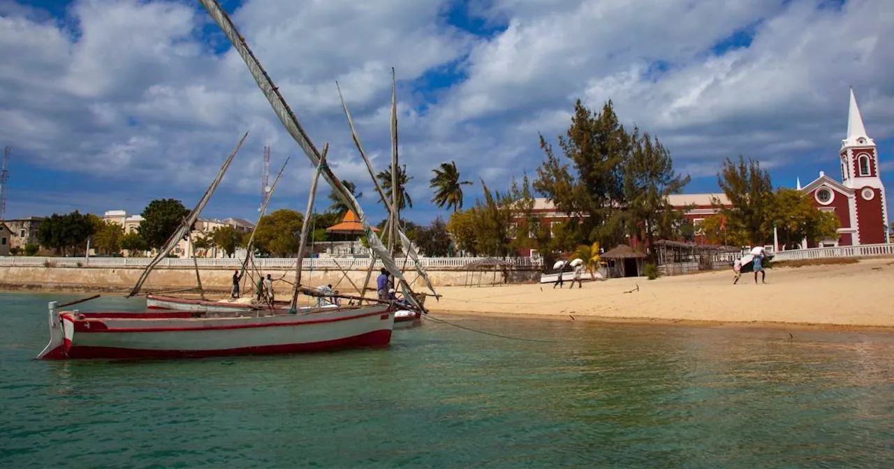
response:
[[[0,289],[5,290],[67,290],[67,291],[98,291],[98,292],[125,292],[133,288],[139,279],[143,268],[130,267],[44,267],[44,266],[3,266],[0,267]],[[199,277],[202,287],[206,291],[226,292],[232,285],[231,269],[208,268],[199,269]],[[269,273],[271,277],[282,279],[274,281],[274,289],[277,293],[285,293],[291,290],[295,271],[287,269],[265,269],[264,275]],[[370,281],[370,287],[375,287],[375,275]],[[422,279],[417,281],[415,271],[404,272],[404,276],[414,286],[420,289],[425,284]],[[478,284],[479,276],[481,284],[493,282],[502,283],[501,272],[468,272],[468,271],[434,271],[428,272],[429,279],[435,287],[461,286],[467,282]],[[301,283],[316,287],[332,284],[335,289],[343,293],[356,291],[362,288],[366,278],[366,271],[348,271],[347,276],[338,270],[315,269],[301,273]],[[519,283],[537,281],[540,272],[535,271],[511,271],[509,282]],[[257,277],[256,277],[257,279]],[[353,285],[351,284],[353,282]],[[188,289],[196,286],[196,271],[186,268],[156,268],[149,274],[144,283],[143,291],[164,291],[174,289]],[[248,283],[243,283],[243,289],[253,289]]]

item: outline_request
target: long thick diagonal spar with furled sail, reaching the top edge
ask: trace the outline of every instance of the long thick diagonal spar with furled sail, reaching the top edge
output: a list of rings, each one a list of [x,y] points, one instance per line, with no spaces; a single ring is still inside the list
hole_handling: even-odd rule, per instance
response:
[[[257,61],[257,57],[255,54],[251,52],[249,46],[245,43],[245,39],[239,34],[239,31],[236,29],[236,26],[232,23],[230,16],[223,11],[220,4],[216,2],[216,0],[198,0],[202,6],[205,7],[208,14],[215,20],[217,26],[223,30],[223,34],[226,35],[227,38],[230,39],[232,46],[239,52],[242,60],[245,62],[246,66],[251,72],[251,76],[254,77],[255,82],[257,83],[257,87],[261,89],[266,96],[267,101],[270,103],[271,107],[274,109],[274,113],[276,113],[277,117],[279,117],[280,121],[283,122],[283,126],[285,130],[289,132],[292,138],[298,143],[299,147],[304,151],[308,158],[310,159],[310,163],[313,163],[315,166],[319,165],[320,162],[320,154],[319,151],[314,147],[313,143],[308,138],[307,133],[301,128],[301,124],[298,121],[298,118],[295,117],[295,114],[291,112],[291,108],[288,103],[285,102],[283,95],[280,94],[279,88],[276,88],[273,80],[270,79],[270,76],[267,75],[267,72],[261,66],[261,63]],[[391,253],[382,245],[382,241],[379,240],[378,236],[375,235],[375,232],[371,230],[369,226],[369,222],[367,222],[367,217],[360,209],[360,205],[357,202],[357,199],[347,190],[342,184],[341,180],[335,177],[335,174],[332,172],[332,169],[324,166],[322,172],[323,178],[327,183],[333,188],[333,193],[336,197],[338,197],[342,203],[348,205],[348,207],[357,214],[359,221],[363,224],[363,229],[367,235],[367,242],[369,247],[375,252],[375,255],[382,260],[382,263],[385,266],[385,269],[394,276],[395,279],[398,279],[403,282],[401,286],[404,297],[409,301],[413,306],[416,306],[421,309],[421,306],[418,305],[416,298],[413,297],[408,288],[406,287],[407,281],[404,279],[403,274],[401,273],[401,269],[394,264],[394,260],[392,259]]]

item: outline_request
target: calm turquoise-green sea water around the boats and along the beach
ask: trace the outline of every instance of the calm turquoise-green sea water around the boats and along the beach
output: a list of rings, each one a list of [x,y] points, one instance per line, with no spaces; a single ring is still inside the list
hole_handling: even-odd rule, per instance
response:
[[[891,334],[460,318],[556,342],[31,360],[59,298],[0,293],[0,467],[894,467]]]

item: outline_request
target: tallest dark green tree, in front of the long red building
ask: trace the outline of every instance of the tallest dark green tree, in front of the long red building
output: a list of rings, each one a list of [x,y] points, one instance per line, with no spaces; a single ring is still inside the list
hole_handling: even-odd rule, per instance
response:
[[[611,100],[594,113],[578,99],[569,130],[558,138],[563,160],[540,136],[546,160],[537,168],[534,188],[560,212],[571,215],[566,236],[576,232],[580,244],[623,241],[624,166],[637,134],[638,130],[628,133],[620,125]]]

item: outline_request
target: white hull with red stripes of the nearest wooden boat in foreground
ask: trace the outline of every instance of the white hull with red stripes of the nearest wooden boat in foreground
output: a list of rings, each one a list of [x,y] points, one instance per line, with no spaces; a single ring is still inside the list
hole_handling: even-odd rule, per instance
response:
[[[259,317],[57,312],[52,305],[50,343],[38,355],[42,359],[232,356],[387,347],[394,325],[394,312],[387,305]]]

